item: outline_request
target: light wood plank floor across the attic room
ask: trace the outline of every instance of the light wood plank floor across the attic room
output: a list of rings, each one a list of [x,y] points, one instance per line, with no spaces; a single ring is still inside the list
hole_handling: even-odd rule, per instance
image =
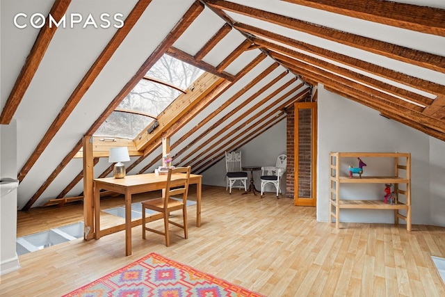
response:
[[[202,227],[189,207],[189,238],[172,226],[168,248],[158,234],[143,240],[138,226],[129,257],[124,232],[22,255],[22,268],[1,276],[0,296],[61,296],[148,252],[265,296],[445,296],[430,257],[445,257],[444,227],[413,225],[407,232],[403,225],[342,223],[337,230],[317,223],[314,207],[295,207],[272,193],[263,199],[241,193],[204,186]],[[101,206],[116,202],[123,200],[106,199]],[[81,204],[19,211],[17,232],[83,220],[82,211]]]

